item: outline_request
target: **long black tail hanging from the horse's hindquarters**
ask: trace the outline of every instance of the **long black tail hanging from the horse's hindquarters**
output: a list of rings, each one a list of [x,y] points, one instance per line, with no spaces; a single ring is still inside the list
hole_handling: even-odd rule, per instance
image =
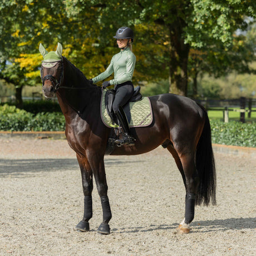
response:
[[[199,105],[200,106],[200,105]],[[197,205],[216,204],[216,170],[211,146],[211,127],[208,114],[203,106],[200,106],[205,113],[204,128],[196,148],[196,170],[199,175],[198,192],[195,203]]]

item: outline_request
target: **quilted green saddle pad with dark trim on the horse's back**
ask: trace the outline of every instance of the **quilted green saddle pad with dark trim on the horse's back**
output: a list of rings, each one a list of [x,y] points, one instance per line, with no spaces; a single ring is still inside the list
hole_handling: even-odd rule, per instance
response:
[[[106,90],[102,91],[101,96],[101,119],[107,127],[113,127],[110,116],[105,107]],[[152,108],[149,97],[142,97],[142,100],[130,102],[131,121],[130,127],[145,127],[152,123]]]

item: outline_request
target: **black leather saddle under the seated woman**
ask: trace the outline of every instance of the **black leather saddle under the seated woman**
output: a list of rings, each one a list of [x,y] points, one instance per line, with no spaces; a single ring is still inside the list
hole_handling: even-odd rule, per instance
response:
[[[116,117],[115,117],[114,111],[112,109],[112,104],[115,100],[115,95],[116,95],[116,91],[114,89],[107,90],[106,95],[105,95],[106,111],[107,111],[107,114],[110,116],[113,125],[116,121],[115,120]],[[127,104],[125,106],[123,106],[123,109],[125,111],[125,114],[126,114],[126,117],[127,117],[127,120],[129,123],[131,121],[130,102],[136,102],[136,101],[140,101],[140,100],[142,100],[142,95],[140,93],[140,86],[136,86],[134,89],[134,93],[130,97],[129,102],[127,102]]]

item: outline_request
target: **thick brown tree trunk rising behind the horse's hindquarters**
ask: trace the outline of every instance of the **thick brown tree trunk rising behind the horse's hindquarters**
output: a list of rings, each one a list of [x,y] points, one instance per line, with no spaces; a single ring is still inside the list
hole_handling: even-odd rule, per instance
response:
[[[187,95],[189,45],[184,43],[183,28],[177,23],[169,27],[170,31],[170,68],[169,92]]]

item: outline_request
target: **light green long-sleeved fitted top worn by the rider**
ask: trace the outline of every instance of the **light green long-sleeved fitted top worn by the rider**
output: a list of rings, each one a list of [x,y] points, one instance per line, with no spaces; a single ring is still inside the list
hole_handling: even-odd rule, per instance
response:
[[[92,78],[93,83],[104,80],[114,72],[114,79],[110,80],[110,85],[118,85],[127,81],[132,81],[134,74],[136,57],[127,47],[112,57],[109,67],[99,76]]]

